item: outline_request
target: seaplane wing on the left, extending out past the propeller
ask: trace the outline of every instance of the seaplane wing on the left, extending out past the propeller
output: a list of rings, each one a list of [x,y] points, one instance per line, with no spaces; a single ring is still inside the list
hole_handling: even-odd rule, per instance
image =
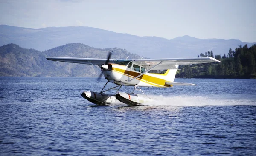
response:
[[[80,63],[86,65],[98,65],[99,67],[106,62],[107,59],[94,59],[94,58],[76,58],[76,57],[46,57],[47,60]],[[113,63],[115,60],[110,59],[109,62]]]

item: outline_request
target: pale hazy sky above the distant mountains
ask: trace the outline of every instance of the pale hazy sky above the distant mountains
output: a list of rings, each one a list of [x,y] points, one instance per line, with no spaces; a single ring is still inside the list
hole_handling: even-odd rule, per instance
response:
[[[256,0],[0,0],[0,24],[256,42]]]

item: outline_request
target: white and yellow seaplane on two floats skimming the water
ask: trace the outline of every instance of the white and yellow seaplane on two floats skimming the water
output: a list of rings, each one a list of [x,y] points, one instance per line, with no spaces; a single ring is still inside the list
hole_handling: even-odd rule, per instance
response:
[[[93,65],[101,71],[99,81],[104,75],[107,80],[100,92],[84,91],[81,96],[96,105],[111,105],[120,101],[129,106],[146,105],[154,99],[148,97],[140,87],[169,88],[174,85],[195,86],[192,83],[174,82],[179,65],[220,62],[212,57],[200,58],[167,58],[167,59],[111,59],[109,52],[107,59],[75,58],[75,57],[46,57],[47,60]],[[163,73],[152,73],[162,70]],[[108,83],[114,86],[106,87]],[[133,89],[129,89],[132,86]],[[126,92],[120,92],[125,87]],[[107,94],[107,91],[111,91]],[[135,93],[140,91],[140,94]],[[113,93],[114,92],[114,93]]]

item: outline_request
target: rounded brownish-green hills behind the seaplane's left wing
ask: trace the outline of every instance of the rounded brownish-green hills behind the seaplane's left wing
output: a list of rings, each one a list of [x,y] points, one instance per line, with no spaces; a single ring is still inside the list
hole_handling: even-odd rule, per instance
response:
[[[113,51],[113,59],[125,59],[128,56],[131,59],[140,58],[125,49],[99,49],[81,43],[70,43],[44,52],[8,44],[0,47],[0,76],[97,77],[99,71],[91,65],[54,62],[46,57],[106,58],[110,50]]]

